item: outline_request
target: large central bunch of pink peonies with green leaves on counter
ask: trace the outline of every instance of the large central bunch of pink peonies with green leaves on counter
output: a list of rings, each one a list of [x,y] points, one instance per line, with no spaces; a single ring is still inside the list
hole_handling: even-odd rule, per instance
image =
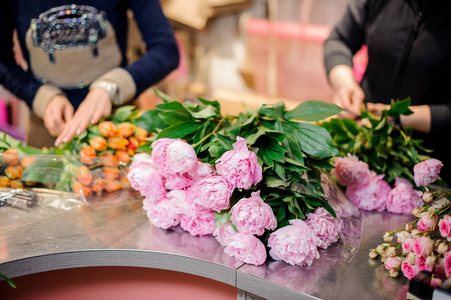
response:
[[[339,152],[309,122],[339,107],[308,101],[286,111],[280,102],[222,116],[217,101],[159,95],[165,103],[140,117],[155,133],[150,154],[135,155],[128,174],[153,225],[214,235],[227,254],[254,265],[266,261],[267,248],[275,260],[311,265],[318,247],[338,240],[321,173]]]

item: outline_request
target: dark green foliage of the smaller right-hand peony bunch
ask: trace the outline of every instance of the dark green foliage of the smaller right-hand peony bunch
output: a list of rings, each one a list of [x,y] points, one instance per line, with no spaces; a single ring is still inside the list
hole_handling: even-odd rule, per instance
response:
[[[400,128],[388,121],[401,115],[410,115],[410,99],[392,103],[376,117],[368,111],[362,118],[370,125],[358,125],[350,119],[333,118],[321,126],[330,133],[340,153],[357,156],[377,174],[385,174],[384,180],[393,184],[396,177],[413,180],[413,166],[429,158],[431,151],[421,147],[421,141],[412,138],[413,128]],[[424,154],[420,154],[424,153]]]

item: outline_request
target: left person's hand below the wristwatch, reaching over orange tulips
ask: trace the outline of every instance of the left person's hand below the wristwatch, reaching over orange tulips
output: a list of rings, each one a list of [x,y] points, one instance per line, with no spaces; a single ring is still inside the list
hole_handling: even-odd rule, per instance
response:
[[[90,123],[95,124],[100,118],[109,116],[111,110],[110,94],[102,89],[93,89],[80,104],[73,118],[66,123],[55,141],[55,146],[66,143],[75,135],[84,132]]]

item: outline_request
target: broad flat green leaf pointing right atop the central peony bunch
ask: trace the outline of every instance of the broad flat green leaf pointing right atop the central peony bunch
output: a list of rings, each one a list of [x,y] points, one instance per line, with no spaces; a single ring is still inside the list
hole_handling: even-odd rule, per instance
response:
[[[294,109],[285,112],[284,119],[313,122],[324,120],[342,111],[343,109],[338,105],[313,100],[302,102]]]

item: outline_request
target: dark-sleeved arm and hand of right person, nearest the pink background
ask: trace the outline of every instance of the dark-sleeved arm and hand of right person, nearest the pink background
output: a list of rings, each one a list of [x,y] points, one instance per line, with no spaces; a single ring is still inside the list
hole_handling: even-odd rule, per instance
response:
[[[352,58],[364,43],[366,5],[366,0],[350,1],[345,14],[324,43],[324,64],[335,91],[333,101],[346,110],[342,115],[350,118],[360,115],[365,98],[354,79]]]

